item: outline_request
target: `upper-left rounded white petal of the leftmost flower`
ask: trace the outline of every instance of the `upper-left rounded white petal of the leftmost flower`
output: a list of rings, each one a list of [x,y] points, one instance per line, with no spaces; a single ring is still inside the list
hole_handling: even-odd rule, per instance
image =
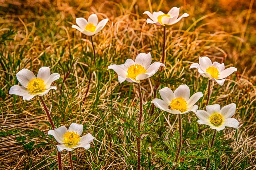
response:
[[[20,70],[16,74],[16,77],[17,77],[18,81],[20,82],[20,84],[24,87],[28,86],[28,83],[30,82],[30,80],[36,78],[34,73],[26,68],[23,68],[22,70]]]

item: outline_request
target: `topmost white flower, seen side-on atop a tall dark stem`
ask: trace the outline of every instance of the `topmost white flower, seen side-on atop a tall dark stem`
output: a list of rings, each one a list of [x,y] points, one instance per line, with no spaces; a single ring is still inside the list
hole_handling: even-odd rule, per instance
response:
[[[185,13],[182,14],[180,18],[178,18],[180,14],[180,8],[177,7],[173,7],[167,14],[164,14],[164,12],[162,11],[153,12],[153,14],[151,14],[149,11],[145,11],[143,14],[147,14],[151,19],[147,19],[148,24],[156,24],[163,26],[176,24],[181,20],[181,18],[189,16],[187,13]]]

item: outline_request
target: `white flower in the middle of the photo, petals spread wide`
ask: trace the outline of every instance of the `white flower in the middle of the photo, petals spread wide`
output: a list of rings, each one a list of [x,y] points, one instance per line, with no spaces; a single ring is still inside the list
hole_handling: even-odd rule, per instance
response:
[[[127,59],[124,64],[108,66],[108,70],[113,69],[118,74],[120,83],[125,80],[139,83],[140,80],[144,80],[156,74],[160,66],[165,67],[165,65],[160,62],[151,64],[151,61],[150,52],[148,54],[140,53],[136,57],[135,62],[132,59]]]

